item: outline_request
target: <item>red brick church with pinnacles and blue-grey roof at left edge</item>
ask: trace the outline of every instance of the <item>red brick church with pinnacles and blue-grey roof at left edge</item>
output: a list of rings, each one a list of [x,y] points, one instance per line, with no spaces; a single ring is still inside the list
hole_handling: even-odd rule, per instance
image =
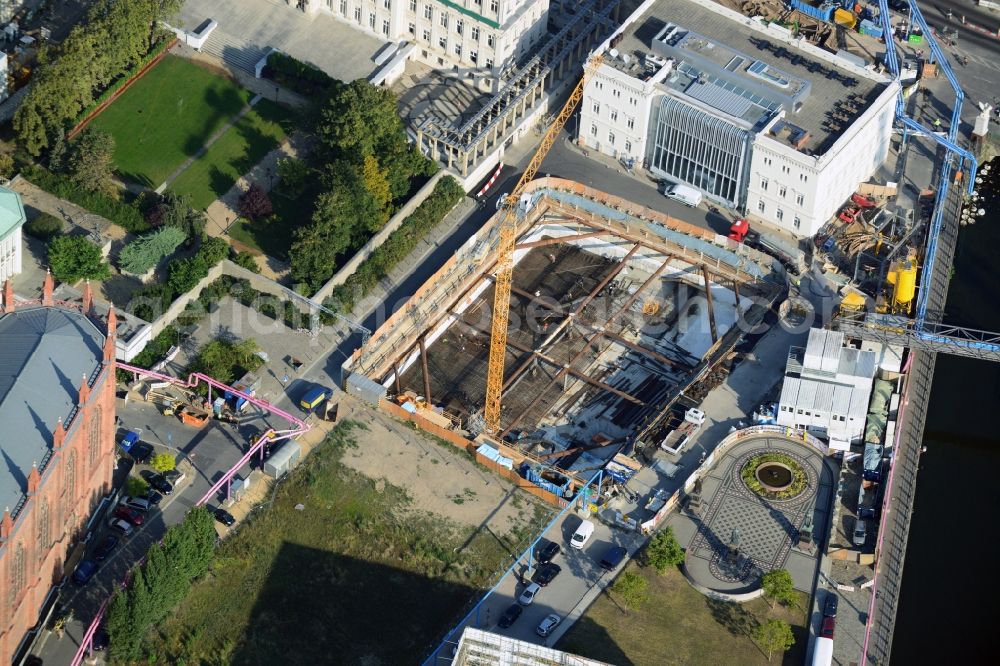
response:
[[[27,646],[115,467],[114,309],[15,299],[0,310],[0,663]]]

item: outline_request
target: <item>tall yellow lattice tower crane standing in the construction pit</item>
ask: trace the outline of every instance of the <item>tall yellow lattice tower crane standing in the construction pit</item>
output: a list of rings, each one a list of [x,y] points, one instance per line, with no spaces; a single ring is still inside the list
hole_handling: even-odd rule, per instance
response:
[[[589,73],[601,64],[601,56],[596,55],[584,66],[583,76],[570,93],[569,99],[559,115],[552,122],[541,145],[531,158],[517,185],[506,196],[500,208],[500,246],[497,250],[497,277],[493,294],[493,325],[490,333],[490,361],[486,374],[486,405],[483,418],[486,430],[493,435],[500,433],[500,399],[503,393],[504,361],[507,353],[507,326],[510,320],[510,288],[514,272],[514,244],[517,241],[517,201],[524,186],[535,179],[539,167],[549,154],[549,150],[559,138],[566,121],[573,115],[583,88],[589,80]]]

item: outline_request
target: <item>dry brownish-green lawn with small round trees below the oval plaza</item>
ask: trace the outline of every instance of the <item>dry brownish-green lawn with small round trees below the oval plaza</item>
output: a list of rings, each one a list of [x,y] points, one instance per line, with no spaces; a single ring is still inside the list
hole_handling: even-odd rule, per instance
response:
[[[770,617],[792,625],[795,645],[774,664],[801,664],[808,643],[805,623],[809,597],[798,593],[798,607],[755,599],[746,604],[714,601],[691,587],[680,571],[657,575],[651,567],[639,571],[649,581],[649,600],[623,613],[614,593],[602,594],[556,645],[583,657],[616,666],[667,664],[740,664],[767,666],[767,655],[757,649],[748,632]]]

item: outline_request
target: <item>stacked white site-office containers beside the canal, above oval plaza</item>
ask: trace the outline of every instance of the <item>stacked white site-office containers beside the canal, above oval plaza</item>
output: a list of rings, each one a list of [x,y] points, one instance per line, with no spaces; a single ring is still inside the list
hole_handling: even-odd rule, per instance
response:
[[[873,350],[844,346],[844,334],[813,328],[788,353],[778,425],[802,428],[848,450],[861,441],[878,366]]]

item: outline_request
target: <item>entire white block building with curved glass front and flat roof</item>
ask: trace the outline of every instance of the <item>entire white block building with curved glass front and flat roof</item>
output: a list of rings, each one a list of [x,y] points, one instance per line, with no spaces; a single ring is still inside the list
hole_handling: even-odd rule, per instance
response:
[[[888,156],[898,82],[712,0],[646,0],[598,52],[578,143],[751,222],[812,236]]]

